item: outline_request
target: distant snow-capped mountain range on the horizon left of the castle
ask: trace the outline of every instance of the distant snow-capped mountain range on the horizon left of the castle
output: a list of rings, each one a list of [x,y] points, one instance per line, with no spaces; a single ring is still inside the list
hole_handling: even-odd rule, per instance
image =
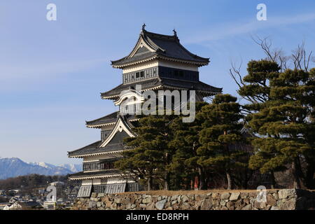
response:
[[[23,162],[19,158],[0,158],[0,179],[27,174],[66,175],[80,171],[82,171],[82,165],[64,164],[55,166],[45,162]]]

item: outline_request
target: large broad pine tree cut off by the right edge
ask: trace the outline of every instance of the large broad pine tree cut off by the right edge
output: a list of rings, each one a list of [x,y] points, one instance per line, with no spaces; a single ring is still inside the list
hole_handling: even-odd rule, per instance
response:
[[[291,165],[294,187],[309,184],[302,171],[314,167],[314,70],[287,69],[269,82],[269,99],[253,113],[248,125],[260,134],[253,140],[256,149],[249,165],[260,172],[274,172]],[[314,170],[314,168],[313,168]],[[309,175],[313,181],[314,171]]]

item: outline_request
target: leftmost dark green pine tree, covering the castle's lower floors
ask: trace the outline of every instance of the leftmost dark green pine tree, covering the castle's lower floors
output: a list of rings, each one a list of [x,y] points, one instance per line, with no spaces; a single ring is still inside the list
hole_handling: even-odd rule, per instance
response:
[[[125,172],[133,174],[137,179],[146,181],[148,190],[153,190],[153,183],[164,185],[169,189],[169,170],[167,165],[172,160],[172,148],[169,141],[172,132],[169,123],[173,116],[145,116],[139,119],[134,132],[137,137],[127,138],[130,151],[123,153],[123,159],[118,160],[115,166]]]

